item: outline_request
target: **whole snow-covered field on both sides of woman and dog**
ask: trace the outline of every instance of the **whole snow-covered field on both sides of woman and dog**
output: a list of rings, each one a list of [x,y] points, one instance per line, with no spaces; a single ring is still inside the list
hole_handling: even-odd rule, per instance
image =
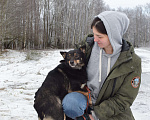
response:
[[[34,94],[62,59],[59,52],[8,50],[0,55],[0,120],[37,120]],[[142,58],[142,84],[131,108],[135,120],[150,120],[150,49],[136,53]]]

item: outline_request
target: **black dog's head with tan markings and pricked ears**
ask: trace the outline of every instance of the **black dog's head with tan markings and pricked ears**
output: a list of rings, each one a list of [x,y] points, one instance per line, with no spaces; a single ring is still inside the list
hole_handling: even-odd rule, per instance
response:
[[[70,50],[69,52],[60,52],[64,60],[60,62],[65,62],[73,69],[82,69],[85,65],[85,46],[80,47],[79,49]]]

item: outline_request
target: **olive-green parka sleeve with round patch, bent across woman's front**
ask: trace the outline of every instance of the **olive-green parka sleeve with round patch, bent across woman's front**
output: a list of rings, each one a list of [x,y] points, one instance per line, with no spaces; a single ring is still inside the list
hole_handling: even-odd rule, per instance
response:
[[[132,80],[136,77],[138,77],[139,83],[138,86],[133,86]],[[94,106],[97,118],[100,120],[131,120],[130,106],[138,94],[140,83],[141,62],[135,71],[126,75],[119,90],[112,97]],[[127,113],[127,111],[130,112]]]

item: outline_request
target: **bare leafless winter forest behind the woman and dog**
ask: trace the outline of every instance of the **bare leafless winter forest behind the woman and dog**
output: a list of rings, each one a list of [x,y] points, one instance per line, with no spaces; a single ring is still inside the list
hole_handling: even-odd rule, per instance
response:
[[[103,0],[0,0],[0,53],[4,49],[68,49],[92,33],[95,15],[111,9]],[[118,8],[130,25],[124,39],[150,46],[150,3]]]

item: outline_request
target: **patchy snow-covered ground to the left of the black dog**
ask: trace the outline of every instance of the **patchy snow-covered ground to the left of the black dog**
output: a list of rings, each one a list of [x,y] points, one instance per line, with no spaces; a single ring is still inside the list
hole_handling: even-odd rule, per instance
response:
[[[55,51],[12,51],[0,56],[0,120],[37,120],[34,94],[61,60]]]

